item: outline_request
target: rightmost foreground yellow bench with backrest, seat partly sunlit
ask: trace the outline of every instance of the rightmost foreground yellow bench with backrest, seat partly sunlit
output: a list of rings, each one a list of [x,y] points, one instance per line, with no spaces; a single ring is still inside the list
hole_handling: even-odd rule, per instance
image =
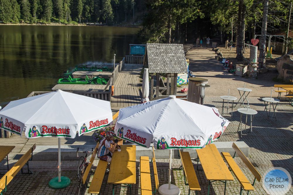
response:
[[[235,157],[235,154],[237,153],[238,156],[241,158],[241,160],[246,165],[246,167],[254,175],[254,180],[253,180],[253,183],[251,184],[250,181],[247,179],[247,177],[244,175],[244,173],[241,171],[239,166],[236,164],[236,162],[234,161],[234,159],[232,158],[230,153],[229,152],[222,152],[222,155],[223,155],[225,161],[229,165],[229,168],[231,168],[232,172],[234,173],[235,177],[237,178],[237,180],[239,181],[239,183],[241,185],[240,186],[240,194],[242,193],[242,190],[244,189],[247,191],[247,195],[248,195],[249,191],[254,190],[253,186],[254,186],[255,180],[258,180],[260,182],[261,175],[255,169],[255,167],[251,164],[251,162],[248,160],[248,158],[246,158],[246,156],[243,154],[243,152],[237,147],[237,145],[235,143],[232,144],[232,147],[235,150],[233,158]]]

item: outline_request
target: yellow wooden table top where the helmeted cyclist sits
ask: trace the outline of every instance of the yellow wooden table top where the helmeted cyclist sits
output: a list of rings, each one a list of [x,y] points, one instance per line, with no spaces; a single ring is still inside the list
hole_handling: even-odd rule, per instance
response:
[[[136,183],[136,146],[120,145],[121,151],[113,152],[108,183]]]

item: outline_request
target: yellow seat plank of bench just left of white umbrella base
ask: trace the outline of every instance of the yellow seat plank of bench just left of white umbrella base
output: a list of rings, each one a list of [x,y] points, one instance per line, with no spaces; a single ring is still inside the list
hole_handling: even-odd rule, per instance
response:
[[[151,195],[151,170],[149,168],[149,157],[140,157],[140,187],[141,195]]]

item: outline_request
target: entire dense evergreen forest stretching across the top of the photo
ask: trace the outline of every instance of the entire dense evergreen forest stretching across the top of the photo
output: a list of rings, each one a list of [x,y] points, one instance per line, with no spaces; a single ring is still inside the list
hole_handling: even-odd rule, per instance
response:
[[[88,23],[143,26],[142,42],[188,43],[196,37],[237,42],[261,33],[286,32],[292,47],[293,0],[0,0],[2,23]],[[290,25],[291,24],[291,25]],[[286,47],[287,48],[287,47]],[[263,50],[263,46],[260,48]],[[263,51],[261,51],[263,55]]]

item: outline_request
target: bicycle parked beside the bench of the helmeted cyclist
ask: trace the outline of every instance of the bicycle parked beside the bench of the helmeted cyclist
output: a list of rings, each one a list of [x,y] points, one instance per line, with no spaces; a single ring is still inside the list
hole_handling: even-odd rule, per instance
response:
[[[93,148],[91,149],[92,151],[79,151],[79,148],[77,148],[76,155],[77,158],[79,158],[78,153],[82,153],[82,156],[79,158],[78,165],[77,165],[77,176],[78,176],[78,194],[82,194],[87,186],[87,182],[83,184],[82,177],[84,176],[84,171],[86,170],[86,167],[90,163],[87,161],[86,157],[88,156],[88,153],[93,153]]]

